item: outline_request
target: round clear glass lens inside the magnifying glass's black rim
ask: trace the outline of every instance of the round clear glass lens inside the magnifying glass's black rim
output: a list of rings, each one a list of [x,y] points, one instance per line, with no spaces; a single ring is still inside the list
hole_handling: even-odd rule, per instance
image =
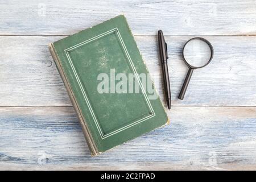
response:
[[[203,67],[210,60],[211,50],[203,40],[193,39],[185,45],[183,55],[188,64]]]

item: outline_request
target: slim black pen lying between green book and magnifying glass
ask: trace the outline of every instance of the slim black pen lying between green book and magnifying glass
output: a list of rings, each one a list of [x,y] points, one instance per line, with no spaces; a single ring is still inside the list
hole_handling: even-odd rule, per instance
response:
[[[163,84],[164,84],[164,94],[166,96],[166,102],[168,109],[171,109],[171,89],[170,89],[170,81],[169,81],[169,73],[168,73],[168,65],[167,65],[167,44],[164,40],[163,31],[158,31],[158,43],[159,43],[159,54],[160,61],[162,63],[162,72],[163,72]]]

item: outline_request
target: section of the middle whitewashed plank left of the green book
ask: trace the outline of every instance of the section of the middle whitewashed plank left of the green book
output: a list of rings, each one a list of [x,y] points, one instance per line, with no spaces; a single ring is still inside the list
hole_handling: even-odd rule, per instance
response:
[[[71,105],[47,47],[57,39],[1,36],[1,106]]]

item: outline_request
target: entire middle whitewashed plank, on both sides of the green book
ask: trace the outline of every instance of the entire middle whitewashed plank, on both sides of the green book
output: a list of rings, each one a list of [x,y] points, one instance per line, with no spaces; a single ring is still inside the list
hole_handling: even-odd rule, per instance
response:
[[[0,106],[71,106],[47,44],[64,36],[0,36]],[[166,37],[174,106],[256,106],[256,36],[209,36],[214,58],[196,70],[178,100],[187,67],[181,49],[187,36]],[[163,100],[155,36],[137,36],[139,49]]]

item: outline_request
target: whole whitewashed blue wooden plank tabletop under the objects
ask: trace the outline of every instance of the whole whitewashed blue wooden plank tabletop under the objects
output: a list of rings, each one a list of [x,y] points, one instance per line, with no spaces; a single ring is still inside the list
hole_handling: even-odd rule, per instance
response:
[[[92,158],[48,43],[124,14],[163,98],[166,35],[171,124]],[[184,43],[214,59],[183,101]],[[0,169],[256,169],[256,2],[0,1]]]

